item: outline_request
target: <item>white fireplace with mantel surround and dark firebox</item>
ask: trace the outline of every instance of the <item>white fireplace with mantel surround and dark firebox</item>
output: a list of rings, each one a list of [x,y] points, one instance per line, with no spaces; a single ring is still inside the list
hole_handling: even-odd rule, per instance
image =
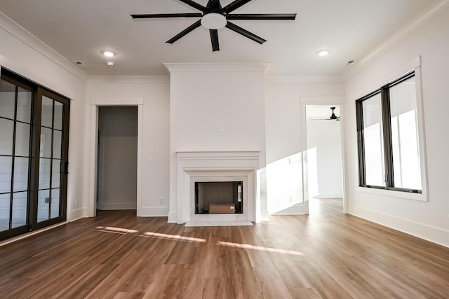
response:
[[[177,152],[177,207],[176,211],[170,211],[169,217],[187,226],[252,225],[252,222],[260,221],[256,211],[259,155],[257,151]],[[210,183],[215,193],[217,188],[235,189],[235,200],[234,195],[226,201],[220,195],[212,204],[228,204],[230,210],[235,202],[236,209],[225,213],[225,207],[215,207],[215,211],[210,213],[210,202],[196,200],[197,187],[209,188],[201,183]]]

